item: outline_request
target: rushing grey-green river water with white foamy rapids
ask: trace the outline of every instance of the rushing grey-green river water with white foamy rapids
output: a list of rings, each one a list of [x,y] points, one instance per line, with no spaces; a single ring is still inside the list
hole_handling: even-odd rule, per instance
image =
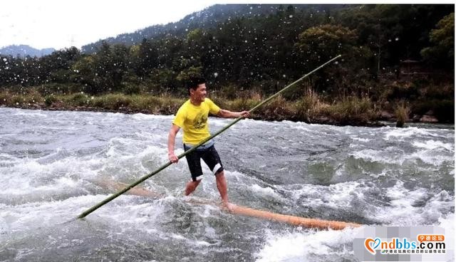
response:
[[[78,214],[167,162],[172,116],[0,108],[0,261],[356,261],[360,229],[305,229],[236,216],[205,167],[185,159]],[[211,130],[231,120],[211,118]],[[182,153],[177,137],[177,153]],[[454,235],[454,126],[335,127],[242,120],[216,138],[235,204],[368,225],[439,225]],[[69,222],[67,222],[69,221]],[[67,222],[67,223],[66,223]]]

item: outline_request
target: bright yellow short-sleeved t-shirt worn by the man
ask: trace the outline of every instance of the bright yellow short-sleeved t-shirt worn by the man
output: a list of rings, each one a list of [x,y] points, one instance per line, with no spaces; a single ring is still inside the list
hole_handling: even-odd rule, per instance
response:
[[[185,144],[197,145],[210,137],[209,125],[207,124],[209,112],[212,115],[217,115],[219,110],[220,108],[209,98],[205,98],[201,105],[193,105],[189,99],[177,110],[172,123],[184,130],[182,140]]]

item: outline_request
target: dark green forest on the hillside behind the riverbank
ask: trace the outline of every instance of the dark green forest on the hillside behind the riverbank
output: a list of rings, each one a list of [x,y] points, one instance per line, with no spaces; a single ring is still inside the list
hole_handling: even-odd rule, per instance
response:
[[[0,89],[183,97],[185,81],[198,75],[233,99],[275,93],[341,54],[285,99],[311,89],[326,103],[353,96],[388,109],[401,102],[452,122],[454,21],[454,5],[444,4],[280,5],[139,43],[101,41],[93,53],[71,47],[41,58],[0,55]]]

